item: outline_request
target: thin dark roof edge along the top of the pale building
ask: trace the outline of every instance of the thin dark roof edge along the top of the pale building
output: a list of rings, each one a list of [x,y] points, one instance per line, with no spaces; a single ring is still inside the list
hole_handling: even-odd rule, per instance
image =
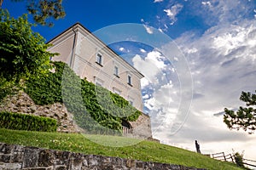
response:
[[[81,26],[85,31],[88,31],[88,32],[90,33],[90,35],[92,35],[93,37],[95,37],[99,42],[102,42],[102,40],[101,40],[100,38],[96,37],[96,35],[94,35],[90,30],[88,30],[87,28],[85,28],[81,23],[76,22],[75,24],[73,24],[73,26],[68,27],[66,30],[62,31],[58,36],[53,37],[52,39],[50,39],[50,40],[49,40],[48,42],[46,42],[46,43],[49,43],[49,42],[54,41],[57,37],[61,37],[62,34],[64,34],[66,31],[72,29],[74,26],[77,26],[77,25]],[[102,42],[102,44],[103,44],[105,47],[107,47],[111,52],[113,52],[113,54],[116,54],[117,56],[119,56],[119,54],[117,54],[115,51],[113,51],[112,48],[109,48],[108,45],[107,45],[105,42]],[[130,63],[128,63],[125,59],[123,59],[123,58],[120,57],[120,56],[119,56],[119,58],[122,59],[123,61],[125,61],[125,63],[126,63],[127,65],[130,65],[135,71],[137,71],[137,69],[136,69],[134,66],[132,66]],[[140,71],[137,71],[137,73],[138,73],[141,77],[144,77],[143,73],[141,73]]]

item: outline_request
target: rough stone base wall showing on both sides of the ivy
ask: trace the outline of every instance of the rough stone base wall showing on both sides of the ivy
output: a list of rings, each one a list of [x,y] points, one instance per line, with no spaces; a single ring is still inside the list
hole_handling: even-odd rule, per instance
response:
[[[3,99],[0,103],[0,111],[11,111],[54,118],[59,123],[57,132],[81,133],[84,131],[73,121],[73,114],[67,111],[65,105],[60,103],[53,105],[36,105],[29,95],[23,91]],[[132,126],[132,134],[127,136],[152,139],[149,116],[143,114],[139,116],[136,122],[130,123]]]

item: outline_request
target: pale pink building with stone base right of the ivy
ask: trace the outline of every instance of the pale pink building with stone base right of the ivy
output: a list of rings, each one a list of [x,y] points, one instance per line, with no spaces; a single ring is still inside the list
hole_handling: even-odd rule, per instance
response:
[[[49,51],[59,53],[52,60],[63,61],[81,78],[119,94],[143,111],[140,80],[143,74],[79,23],[49,41]],[[150,117],[143,114],[137,122],[124,122],[123,132],[151,137]]]

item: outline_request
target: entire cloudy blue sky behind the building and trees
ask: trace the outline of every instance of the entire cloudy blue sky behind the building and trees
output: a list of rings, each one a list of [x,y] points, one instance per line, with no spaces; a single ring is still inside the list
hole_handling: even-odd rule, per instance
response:
[[[255,133],[230,131],[222,116],[214,116],[243,105],[241,91],[256,89],[255,0],[64,0],[63,5],[65,19],[33,28],[47,41],[76,22],[99,33],[106,26],[139,24],[148,36],[172,39],[158,48],[129,41],[112,46],[146,76],[143,99],[154,138],[189,150],[197,139],[203,153],[244,150],[255,160]],[[17,17],[25,3],[4,1],[3,8]],[[190,89],[192,99],[183,96]],[[180,114],[183,105],[189,111]]]

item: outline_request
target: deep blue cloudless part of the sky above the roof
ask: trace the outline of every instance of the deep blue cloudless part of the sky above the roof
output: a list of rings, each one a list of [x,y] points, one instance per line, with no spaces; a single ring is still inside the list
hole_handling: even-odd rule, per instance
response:
[[[199,34],[203,33],[211,24],[205,22],[201,14],[195,14],[195,8],[191,8],[191,3],[188,1],[180,2],[176,3],[173,1],[172,3],[162,1],[160,3],[154,3],[153,1],[152,3],[150,0],[131,0],[129,2],[125,0],[96,0],[73,3],[64,0],[63,6],[67,14],[65,19],[56,20],[55,26],[52,28],[37,26],[34,30],[40,32],[47,41],[76,22],[82,23],[90,31],[96,31],[102,27],[119,23],[144,23],[161,29],[166,29],[165,25],[168,26],[166,31],[172,38],[179,37],[183,32],[190,30],[196,31]],[[182,7],[179,7],[180,11],[174,18],[170,18],[166,15],[167,11],[165,12],[164,10],[165,8],[172,8],[172,5],[175,4],[182,4]],[[3,8],[9,8],[9,12],[17,17],[26,12],[26,3],[4,1]],[[177,17],[179,17],[179,20],[176,19]],[[173,21],[175,22],[175,26],[170,26],[170,23]]]

